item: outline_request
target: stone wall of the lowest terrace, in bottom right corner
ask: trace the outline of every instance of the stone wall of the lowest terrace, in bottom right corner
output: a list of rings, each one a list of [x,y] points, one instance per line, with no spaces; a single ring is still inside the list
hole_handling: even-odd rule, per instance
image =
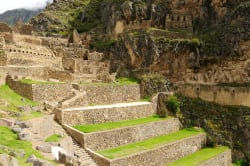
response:
[[[227,150],[215,156],[214,158],[199,164],[199,166],[212,166],[212,165],[231,166],[232,165],[231,150]]]

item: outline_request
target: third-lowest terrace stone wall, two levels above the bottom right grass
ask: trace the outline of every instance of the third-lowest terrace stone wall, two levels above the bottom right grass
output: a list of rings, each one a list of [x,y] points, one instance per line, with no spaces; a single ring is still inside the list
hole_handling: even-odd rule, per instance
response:
[[[67,128],[67,131],[71,133],[71,136],[75,138],[75,140],[80,141],[80,144],[84,143],[84,148],[98,151],[176,132],[180,128],[180,123],[178,119],[171,118],[136,126],[128,126],[93,133],[75,131],[74,128],[69,126],[66,126],[65,128]],[[82,136],[80,136],[79,133]]]

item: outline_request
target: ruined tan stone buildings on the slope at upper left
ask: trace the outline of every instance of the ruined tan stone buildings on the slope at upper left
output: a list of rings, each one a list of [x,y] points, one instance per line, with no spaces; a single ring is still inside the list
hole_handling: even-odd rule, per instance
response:
[[[85,48],[76,30],[68,39],[47,38],[30,35],[32,28],[26,26],[30,27],[18,22],[12,30],[0,23],[0,74],[21,73],[39,80],[109,80],[109,62],[103,61],[103,54]],[[84,43],[89,38],[85,36]]]

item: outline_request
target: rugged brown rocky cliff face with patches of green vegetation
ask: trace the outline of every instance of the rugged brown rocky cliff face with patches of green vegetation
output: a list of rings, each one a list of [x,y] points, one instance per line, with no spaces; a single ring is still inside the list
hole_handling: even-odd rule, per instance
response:
[[[58,0],[31,23],[52,33],[91,31],[92,48],[106,51],[114,71],[248,82],[249,10],[249,0]]]

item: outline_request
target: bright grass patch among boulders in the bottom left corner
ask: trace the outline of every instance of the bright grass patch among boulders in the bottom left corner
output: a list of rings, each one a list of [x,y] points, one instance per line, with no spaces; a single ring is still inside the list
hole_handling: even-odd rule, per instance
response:
[[[22,165],[22,166],[30,165],[26,163],[26,160],[32,154],[34,154],[38,158],[44,159],[38,151],[32,149],[32,145],[30,142],[17,140],[17,135],[14,134],[7,127],[0,126],[0,144],[4,146],[8,146],[9,148],[15,151],[18,151],[20,149],[23,149],[25,151],[24,157],[22,158],[17,157],[19,161],[19,165]],[[0,151],[0,153],[4,153],[4,151]]]

